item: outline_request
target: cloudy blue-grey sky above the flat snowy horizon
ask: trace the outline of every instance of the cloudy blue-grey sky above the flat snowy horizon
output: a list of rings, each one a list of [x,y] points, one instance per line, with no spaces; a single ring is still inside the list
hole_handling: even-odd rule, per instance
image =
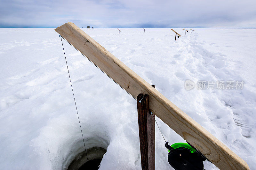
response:
[[[255,0],[0,0],[0,27],[256,27]]]

